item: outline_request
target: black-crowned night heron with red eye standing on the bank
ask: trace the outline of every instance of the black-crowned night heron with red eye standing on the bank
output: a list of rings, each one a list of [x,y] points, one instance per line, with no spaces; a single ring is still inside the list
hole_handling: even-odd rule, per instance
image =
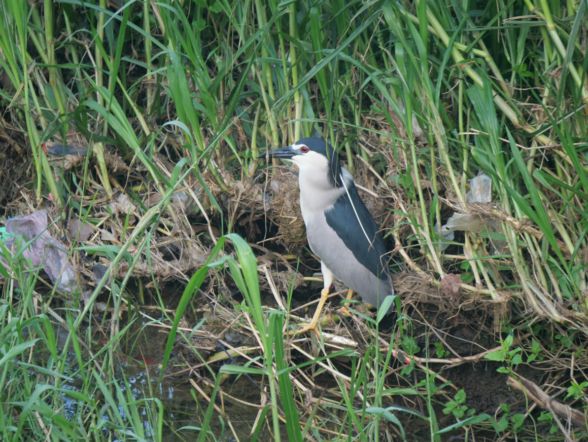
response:
[[[289,160],[300,170],[300,210],[325,281],[315,316],[298,333],[316,330],[335,278],[349,287],[348,299],[355,291],[365,302],[380,307],[386,296],[394,294],[386,247],[335,149],[320,138],[303,138],[258,156],[266,157]],[[390,306],[387,313],[391,310]]]

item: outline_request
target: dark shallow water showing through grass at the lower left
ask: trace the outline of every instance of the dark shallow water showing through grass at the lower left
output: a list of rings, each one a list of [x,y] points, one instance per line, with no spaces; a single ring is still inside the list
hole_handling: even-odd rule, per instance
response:
[[[183,286],[177,288],[171,288],[162,294],[163,305],[168,309],[175,309],[179,302],[179,298],[183,292]],[[155,304],[155,302],[153,302]],[[202,395],[193,388],[189,382],[188,373],[179,374],[178,376],[163,377],[161,384],[158,383],[159,375],[161,373],[161,364],[163,361],[163,353],[165,346],[168,341],[169,334],[167,329],[161,327],[149,325],[152,322],[151,319],[161,320],[163,324],[170,324],[166,320],[166,316],[161,310],[145,309],[141,310],[144,315],[136,316],[133,313],[133,317],[136,318],[135,322],[131,324],[131,327],[125,334],[125,337],[121,340],[119,347],[113,349],[115,351],[116,360],[116,373],[119,378],[125,377],[128,381],[129,387],[131,387],[131,393],[135,400],[141,401],[143,398],[150,398],[150,391],[153,392],[153,396],[160,399],[165,405],[164,411],[164,425],[162,437],[165,441],[193,441],[198,437],[198,428],[202,425],[202,419],[209,406],[208,400],[204,399]],[[173,319],[173,313],[168,313]],[[148,316],[148,317],[145,317]],[[149,317],[151,319],[149,319]],[[192,318],[194,320],[199,319],[198,317]],[[107,321],[111,320],[111,315],[107,314]],[[125,312],[122,315],[120,328],[126,326],[128,323],[128,314]],[[194,324],[191,323],[191,327]],[[92,326],[93,332],[93,351],[98,351],[105,343],[106,338],[102,334],[96,333],[95,323]],[[103,326],[103,330],[109,330],[108,324]],[[87,332],[87,326],[83,327],[81,333]],[[63,328],[57,328],[55,330],[56,337],[58,339],[58,346],[63,347],[69,332]],[[186,333],[186,332],[185,332]],[[186,334],[189,334],[186,333]],[[69,353],[68,363],[72,367],[77,367],[75,353],[71,346],[71,352]],[[175,349],[174,349],[175,350]],[[215,351],[219,351],[216,349]],[[127,356],[131,356],[128,359]],[[136,363],[135,360],[142,361],[145,358],[145,364]],[[191,360],[191,365],[198,363],[196,359]],[[240,363],[244,361],[239,361]],[[226,363],[222,362],[222,363]],[[220,364],[222,364],[220,363]],[[172,357],[169,360],[168,367],[165,374],[173,374],[174,371],[182,369],[176,365],[183,364],[181,357],[178,357],[178,352],[173,351]],[[219,364],[213,366],[215,373],[218,373]],[[205,376],[208,382],[213,383],[214,380],[210,371],[205,369],[198,370],[199,376]],[[198,376],[192,376],[192,379],[198,381]],[[255,381],[255,383],[253,383]],[[151,383],[151,390],[149,389],[149,383]],[[260,403],[260,389],[258,387],[260,379],[248,379],[245,376],[229,376],[222,383],[222,390],[229,394],[229,396],[236,397],[239,400],[246,401],[252,404]],[[256,385],[257,384],[257,385]],[[205,391],[208,395],[211,394],[211,387],[207,387],[205,383],[198,382],[199,387]],[[119,386],[126,394],[125,387],[122,381],[119,381]],[[74,379],[70,383],[66,383],[64,388],[82,390],[81,379]],[[149,434],[152,433],[150,428],[148,413],[144,409],[144,402],[141,402],[139,406],[139,413],[143,417],[143,428],[145,430],[145,437],[150,438]],[[223,417],[218,411],[214,411],[213,417],[209,426],[209,431],[214,434],[215,440],[218,441],[236,441],[233,436],[232,430],[230,430],[226,418],[230,419],[230,423],[235,430],[235,434],[240,441],[247,441],[250,439],[250,432],[253,428],[253,423],[258,416],[259,409],[256,407],[246,406],[242,403],[231,400],[228,397],[220,399],[220,391],[216,396],[215,404],[222,408],[225,414]],[[74,416],[76,412],[76,403],[67,396],[64,395],[64,405],[66,413],[70,416]],[[149,407],[154,407],[153,401],[148,402]],[[119,407],[119,412],[123,414],[123,408]],[[265,432],[264,432],[265,431]],[[260,433],[260,441],[269,440],[270,434],[264,428]]]

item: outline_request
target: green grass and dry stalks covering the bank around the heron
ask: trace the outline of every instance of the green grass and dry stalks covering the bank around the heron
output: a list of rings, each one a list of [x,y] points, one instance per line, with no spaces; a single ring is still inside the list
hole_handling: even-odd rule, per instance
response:
[[[268,266],[235,232],[245,234],[245,217],[252,225],[260,212],[243,210],[248,189],[265,176],[272,182],[273,169],[256,156],[322,136],[373,197],[370,208],[410,272],[452,296],[461,290],[467,303],[493,306],[502,348],[493,360],[515,375],[522,341],[500,333],[529,331],[527,364],[556,373],[569,396],[585,399],[588,379],[574,377],[574,367],[577,376],[587,361],[586,8],[583,1],[547,0],[0,0],[0,144],[11,149],[0,172],[6,214],[46,207],[51,229],[81,219],[116,234],[111,239],[102,228],[103,243],[81,241],[69,250],[76,259],[100,253],[111,263],[83,307],[65,302],[57,309],[55,300],[65,296],[54,288],[39,294],[41,269],[24,257],[32,239],[17,240],[12,253],[2,248],[2,439],[162,440],[168,421],[158,389],[149,381],[148,391],[133,390],[117,349],[131,323],[140,322],[129,313],[121,323],[122,309],[132,310],[125,286],[139,276],[141,290],[140,277],[158,290],[158,266],[169,258],[158,252],[164,239],[189,256],[166,267],[166,277],[175,272],[188,285],[175,316],[166,319],[161,303],[159,322],[171,330],[161,371],[147,376],[160,383],[167,376],[195,291],[209,278],[214,293],[226,294],[230,274],[230,285],[245,296],[231,310],[232,324],[248,330],[259,353],[220,373],[247,374],[269,387],[260,393],[253,440],[264,431],[274,440],[402,439],[410,433],[407,420],[399,420],[405,413],[425,421],[432,441],[449,431],[466,439],[474,431],[497,440],[549,438],[536,436],[533,414],[505,407],[473,416],[447,411],[456,423],[440,430],[439,403],[459,410],[463,401],[449,406],[449,384],[429,364],[454,362],[442,344],[433,359],[428,341],[425,354],[413,357],[420,349],[409,333],[409,304],[386,333],[381,317],[353,310],[365,336],[361,351],[340,346],[330,353],[325,335],[304,353],[282,334],[293,328],[293,316],[262,305],[259,279],[275,289]],[[71,160],[46,151],[60,140],[89,147],[89,155],[66,167]],[[492,179],[492,203],[467,200],[470,179],[479,175]],[[133,210],[101,209],[122,190]],[[258,209],[265,191],[256,196]],[[158,194],[154,204],[149,194]],[[208,239],[195,231],[187,206],[174,202],[178,195],[191,201],[191,219],[205,225]],[[21,196],[26,205],[13,201]],[[454,211],[482,216],[486,227],[443,249],[447,239],[435,226]],[[451,273],[460,274],[453,291],[443,283]],[[93,326],[88,313],[104,286],[112,290],[113,311]],[[68,331],[61,347],[55,324]],[[96,331],[108,341],[98,351]],[[300,363],[301,354],[308,360]],[[390,366],[404,354],[402,385],[392,385]],[[333,362],[343,356],[345,369]],[[202,363],[215,379],[198,440],[215,440],[210,426],[223,377]],[[317,394],[307,366],[330,376],[337,400]],[[413,404],[425,404],[425,413],[392,404],[397,395],[416,397]],[[233,437],[243,437],[225,411],[219,416]],[[540,421],[553,422],[569,440],[569,430],[549,419]]]

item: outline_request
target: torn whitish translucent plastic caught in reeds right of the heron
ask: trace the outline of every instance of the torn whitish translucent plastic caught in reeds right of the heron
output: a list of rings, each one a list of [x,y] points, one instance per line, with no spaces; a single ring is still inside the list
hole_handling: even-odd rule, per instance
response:
[[[470,187],[471,190],[466,193],[466,203],[492,202],[492,178],[480,172],[476,178],[470,180]],[[460,206],[457,205],[457,207]],[[440,228],[439,225],[435,225],[435,232],[439,233],[444,239],[452,241],[455,238],[453,232],[456,230],[480,233],[484,227],[488,232],[503,233],[500,223],[489,217],[457,212],[453,212],[447,223]],[[502,253],[506,246],[506,242],[502,240],[492,240],[492,243],[497,253]],[[444,241],[440,244],[440,249],[445,250],[448,246],[449,242]]]

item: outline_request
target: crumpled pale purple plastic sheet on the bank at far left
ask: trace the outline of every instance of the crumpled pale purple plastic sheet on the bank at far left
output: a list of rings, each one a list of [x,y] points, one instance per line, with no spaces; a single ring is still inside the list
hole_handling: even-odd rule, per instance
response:
[[[35,240],[22,253],[30,258],[33,268],[41,266],[49,279],[60,292],[74,293],[78,286],[78,272],[69,262],[68,255],[58,240],[49,235],[47,229],[47,212],[37,210],[31,215],[15,216],[6,222],[6,232],[24,235],[28,240]],[[12,250],[15,237],[5,242],[6,248]]]

